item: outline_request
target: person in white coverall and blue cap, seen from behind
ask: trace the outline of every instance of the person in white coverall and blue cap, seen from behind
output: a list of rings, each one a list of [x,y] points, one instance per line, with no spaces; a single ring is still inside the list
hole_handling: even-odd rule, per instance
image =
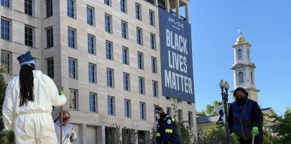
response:
[[[5,129],[13,130],[16,143],[58,143],[51,110],[65,104],[65,93],[59,95],[53,80],[35,70],[30,51],[18,60],[20,73],[9,81],[3,104]]]

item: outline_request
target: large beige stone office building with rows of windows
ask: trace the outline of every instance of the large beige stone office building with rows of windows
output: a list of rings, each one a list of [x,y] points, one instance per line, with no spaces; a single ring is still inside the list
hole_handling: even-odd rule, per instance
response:
[[[16,58],[31,51],[37,70],[67,93],[63,110],[70,112],[75,143],[110,143],[113,124],[136,133],[130,143],[146,143],[156,106],[169,114],[177,111],[178,120],[190,121],[196,130],[191,39],[160,30],[161,23],[172,22],[175,30],[189,25],[188,0],[1,0],[0,17],[6,82],[20,70]],[[166,41],[160,32],[176,52],[161,53]],[[162,63],[170,53],[174,61]],[[59,112],[54,107],[53,118]]]

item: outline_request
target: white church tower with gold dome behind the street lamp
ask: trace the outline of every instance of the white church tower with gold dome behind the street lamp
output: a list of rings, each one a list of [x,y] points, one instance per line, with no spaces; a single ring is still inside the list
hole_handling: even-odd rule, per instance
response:
[[[251,63],[250,60],[250,47],[252,45],[245,40],[240,30],[238,32],[240,36],[233,44],[234,64],[231,67],[231,70],[233,70],[234,89],[243,87],[249,93],[248,98],[258,101],[257,93],[259,90],[256,89],[254,81],[254,68],[256,68],[256,65]]]

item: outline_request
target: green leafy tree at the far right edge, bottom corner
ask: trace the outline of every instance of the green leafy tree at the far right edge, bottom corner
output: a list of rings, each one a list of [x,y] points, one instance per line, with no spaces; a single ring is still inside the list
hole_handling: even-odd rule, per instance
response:
[[[287,107],[283,116],[273,115],[275,124],[271,126],[273,133],[277,137],[274,138],[274,143],[291,143],[291,107]]]

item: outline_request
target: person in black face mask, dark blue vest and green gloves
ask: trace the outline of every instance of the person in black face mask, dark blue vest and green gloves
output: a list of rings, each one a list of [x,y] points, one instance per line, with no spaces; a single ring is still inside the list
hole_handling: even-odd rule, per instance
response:
[[[263,114],[256,101],[247,98],[248,93],[243,88],[233,92],[235,102],[228,111],[228,128],[233,144],[263,143]]]

